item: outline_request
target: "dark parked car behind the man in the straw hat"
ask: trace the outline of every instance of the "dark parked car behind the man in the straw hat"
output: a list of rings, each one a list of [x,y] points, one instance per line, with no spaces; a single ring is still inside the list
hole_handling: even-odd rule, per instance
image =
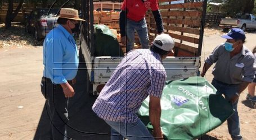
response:
[[[25,17],[25,31],[32,33],[38,41],[45,36],[57,24],[57,12],[59,9],[54,8],[37,8],[33,10],[29,16]]]

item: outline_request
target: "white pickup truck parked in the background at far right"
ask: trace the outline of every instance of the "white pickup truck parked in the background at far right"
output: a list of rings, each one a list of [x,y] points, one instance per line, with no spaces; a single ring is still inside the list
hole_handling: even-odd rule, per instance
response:
[[[256,18],[249,13],[237,13],[235,18],[222,18],[219,26],[223,28],[223,31],[233,27],[239,27],[244,31],[246,29],[256,29]]]

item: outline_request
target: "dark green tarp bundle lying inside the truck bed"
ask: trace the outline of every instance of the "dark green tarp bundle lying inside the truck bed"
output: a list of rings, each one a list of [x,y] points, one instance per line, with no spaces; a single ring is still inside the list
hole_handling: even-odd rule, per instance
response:
[[[120,48],[116,36],[106,25],[94,25],[95,56],[123,57],[124,53]]]

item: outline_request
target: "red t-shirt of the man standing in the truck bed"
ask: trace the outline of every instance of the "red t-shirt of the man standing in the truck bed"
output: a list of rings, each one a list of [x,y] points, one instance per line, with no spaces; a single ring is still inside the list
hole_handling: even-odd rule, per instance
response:
[[[140,21],[149,8],[152,11],[158,10],[158,0],[124,0],[121,9],[127,12],[129,20]]]

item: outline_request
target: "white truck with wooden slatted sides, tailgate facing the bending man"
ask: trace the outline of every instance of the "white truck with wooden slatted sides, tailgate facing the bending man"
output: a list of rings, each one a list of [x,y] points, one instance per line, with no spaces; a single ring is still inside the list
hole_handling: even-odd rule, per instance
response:
[[[92,26],[93,15],[88,15],[88,13],[93,13],[94,9],[92,5],[92,1],[82,1],[82,18],[87,22],[83,22],[81,26],[79,61],[80,65],[83,65],[83,68],[87,70],[84,73],[87,75],[87,93],[91,95],[98,95],[123,57],[96,56],[96,48],[94,44],[96,44],[97,41],[95,42],[95,30]],[[164,9],[163,12],[161,11],[161,15],[163,17],[164,29],[167,29],[165,30],[165,34],[169,34],[176,41],[176,45],[173,49],[174,55],[167,57],[167,59],[163,61],[163,65],[167,72],[167,80],[178,80],[181,78],[199,75],[206,5],[207,1],[183,4],[167,3],[167,5],[159,6],[161,10]],[[176,12],[173,12],[173,10],[170,9],[169,11],[165,10],[166,7],[177,7],[179,9],[176,10]],[[180,8],[183,7],[197,7],[194,9],[199,9],[199,7],[201,7],[203,11],[186,11],[186,8],[184,10],[180,10]],[[174,17],[171,20],[169,19],[170,14]],[[176,18],[180,15],[191,18],[196,17],[197,20]],[[200,16],[200,18],[198,16]],[[152,19],[154,19],[154,17]],[[176,23],[176,25],[172,23]],[[197,25],[199,28],[195,29],[186,25]],[[156,25],[154,20],[150,22],[150,26],[150,34],[156,35]]]

